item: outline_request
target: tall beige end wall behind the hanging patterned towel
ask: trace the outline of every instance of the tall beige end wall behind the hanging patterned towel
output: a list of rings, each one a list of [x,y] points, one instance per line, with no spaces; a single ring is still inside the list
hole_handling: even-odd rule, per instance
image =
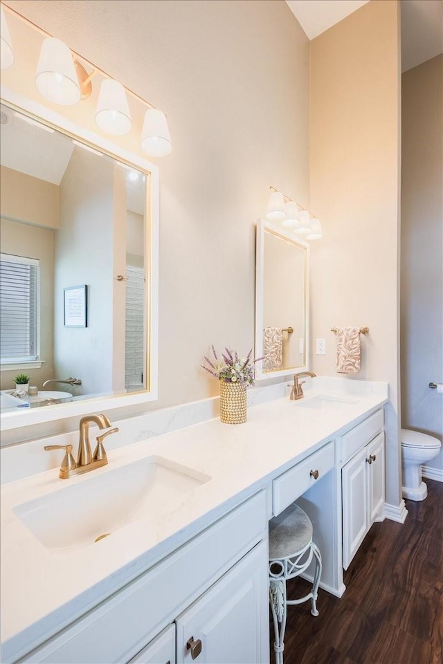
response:
[[[334,326],[369,326],[349,380],[386,380],[387,501],[399,506],[397,233],[399,7],[372,1],[311,42],[311,210],[325,237],[311,243],[311,352],[335,373]]]

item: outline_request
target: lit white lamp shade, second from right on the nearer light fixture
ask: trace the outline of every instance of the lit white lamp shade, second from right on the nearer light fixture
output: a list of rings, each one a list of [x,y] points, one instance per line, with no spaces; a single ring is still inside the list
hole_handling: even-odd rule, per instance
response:
[[[96,108],[96,124],[107,133],[123,136],[132,129],[131,112],[125,88],[118,81],[105,78],[100,86]]]

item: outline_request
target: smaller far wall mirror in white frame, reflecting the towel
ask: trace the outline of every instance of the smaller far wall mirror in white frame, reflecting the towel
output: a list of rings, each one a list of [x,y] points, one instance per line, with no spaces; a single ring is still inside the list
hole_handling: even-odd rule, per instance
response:
[[[290,230],[257,221],[257,379],[308,368],[309,245]]]

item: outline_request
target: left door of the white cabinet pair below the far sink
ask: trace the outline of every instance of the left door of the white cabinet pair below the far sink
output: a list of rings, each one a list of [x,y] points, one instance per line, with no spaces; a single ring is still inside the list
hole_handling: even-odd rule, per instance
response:
[[[341,469],[343,492],[343,567],[347,569],[368,532],[368,483],[363,448]]]

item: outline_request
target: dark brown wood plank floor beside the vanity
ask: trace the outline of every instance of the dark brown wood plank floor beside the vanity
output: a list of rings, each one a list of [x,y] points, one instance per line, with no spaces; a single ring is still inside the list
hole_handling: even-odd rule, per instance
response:
[[[443,663],[443,483],[426,483],[404,524],[372,526],[341,599],[320,590],[318,618],[309,602],[289,607],[284,664]],[[288,596],[305,584],[293,580]]]

